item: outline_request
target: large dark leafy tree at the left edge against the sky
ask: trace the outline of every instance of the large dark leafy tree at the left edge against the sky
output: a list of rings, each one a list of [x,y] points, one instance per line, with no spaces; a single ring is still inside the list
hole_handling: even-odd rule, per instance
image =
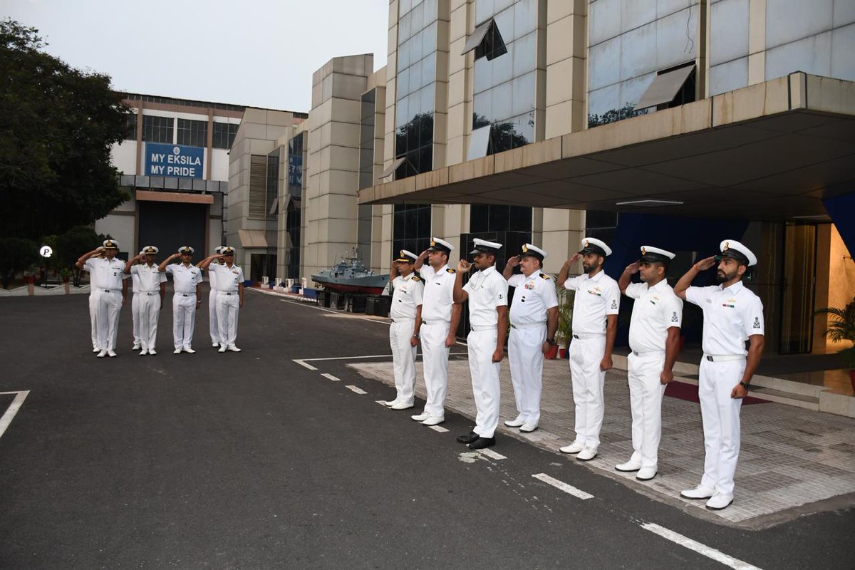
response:
[[[60,234],[127,200],[110,164],[129,109],[109,76],[44,52],[38,30],[0,21],[0,237]]]

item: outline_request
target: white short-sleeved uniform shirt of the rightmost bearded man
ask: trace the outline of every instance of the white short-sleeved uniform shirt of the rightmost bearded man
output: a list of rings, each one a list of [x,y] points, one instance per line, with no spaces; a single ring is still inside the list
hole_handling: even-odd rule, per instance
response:
[[[763,334],[763,302],[742,281],[727,289],[722,285],[689,287],[686,300],[704,311],[704,353],[746,356],[746,340]]]

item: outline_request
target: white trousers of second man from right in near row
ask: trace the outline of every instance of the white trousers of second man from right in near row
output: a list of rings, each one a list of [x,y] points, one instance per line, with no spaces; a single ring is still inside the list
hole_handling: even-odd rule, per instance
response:
[[[659,439],[662,437],[662,397],[665,385],[660,374],[665,367],[665,353],[651,352],[628,356],[627,378],[629,407],[633,413],[633,456],[641,467],[657,470]]]

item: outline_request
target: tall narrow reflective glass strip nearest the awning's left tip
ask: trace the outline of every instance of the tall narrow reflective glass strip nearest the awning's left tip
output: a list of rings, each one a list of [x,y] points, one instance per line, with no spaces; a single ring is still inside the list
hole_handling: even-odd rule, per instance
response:
[[[398,3],[395,158],[406,158],[396,179],[433,168],[438,0]]]

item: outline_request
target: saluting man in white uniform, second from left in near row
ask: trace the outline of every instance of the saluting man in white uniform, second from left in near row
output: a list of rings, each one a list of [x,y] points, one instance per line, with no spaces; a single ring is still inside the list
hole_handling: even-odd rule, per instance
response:
[[[454,303],[455,271],[448,267],[454,246],[433,238],[430,247],[416,260],[425,291],[422,297],[422,366],[428,401],[422,414],[410,416],[424,426],[445,421],[445,394],[448,391],[448,352],[457,343],[461,306]],[[428,260],[428,265],[424,261]]]

